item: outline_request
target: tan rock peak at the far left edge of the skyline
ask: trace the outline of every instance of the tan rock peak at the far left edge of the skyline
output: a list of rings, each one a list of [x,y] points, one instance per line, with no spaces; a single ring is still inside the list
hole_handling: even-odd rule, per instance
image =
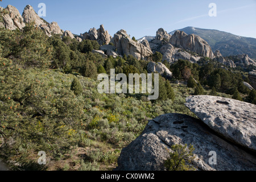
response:
[[[5,27],[9,30],[15,30],[16,28],[19,28],[21,30],[25,26],[23,18],[16,7],[8,5],[6,9],[0,7],[0,10],[6,11],[6,14],[2,16],[3,22],[0,22],[0,27]]]

